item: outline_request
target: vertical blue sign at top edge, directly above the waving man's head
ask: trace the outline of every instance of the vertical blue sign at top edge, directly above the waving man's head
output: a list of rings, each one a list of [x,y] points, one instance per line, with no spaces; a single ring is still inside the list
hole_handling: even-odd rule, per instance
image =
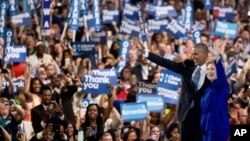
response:
[[[184,10],[185,10],[184,27],[186,30],[190,31],[193,25],[193,12],[194,12],[194,9],[190,0],[187,0],[187,3],[184,6]]]

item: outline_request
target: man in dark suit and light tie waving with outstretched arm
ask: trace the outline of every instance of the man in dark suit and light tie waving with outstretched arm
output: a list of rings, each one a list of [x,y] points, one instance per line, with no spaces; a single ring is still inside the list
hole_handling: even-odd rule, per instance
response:
[[[143,49],[151,62],[182,75],[182,93],[177,118],[181,122],[181,141],[201,141],[200,98],[209,81],[205,77],[208,48],[197,44],[192,50],[192,60],[176,63]]]

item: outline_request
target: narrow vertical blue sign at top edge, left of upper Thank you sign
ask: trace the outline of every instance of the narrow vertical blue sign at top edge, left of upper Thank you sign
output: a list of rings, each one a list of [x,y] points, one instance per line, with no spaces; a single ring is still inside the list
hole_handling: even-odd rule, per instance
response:
[[[95,19],[95,31],[100,31],[102,28],[101,25],[101,16],[100,16],[100,9],[99,9],[99,0],[93,1],[93,14]]]

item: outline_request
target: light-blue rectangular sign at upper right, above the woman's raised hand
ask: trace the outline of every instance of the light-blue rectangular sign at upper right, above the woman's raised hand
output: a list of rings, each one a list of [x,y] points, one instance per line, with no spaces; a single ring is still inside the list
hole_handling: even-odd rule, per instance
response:
[[[236,23],[216,21],[214,35],[234,39],[237,36],[237,30],[238,25]]]

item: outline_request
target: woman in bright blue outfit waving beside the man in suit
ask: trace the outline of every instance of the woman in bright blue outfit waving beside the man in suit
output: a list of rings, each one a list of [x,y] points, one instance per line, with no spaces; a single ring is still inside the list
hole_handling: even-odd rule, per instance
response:
[[[215,41],[212,54],[215,61],[207,62],[207,78],[211,81],[201,98],[201,131],[203,141],[227,141],[229,137],[229,85],[220,59],[221,45]]]

